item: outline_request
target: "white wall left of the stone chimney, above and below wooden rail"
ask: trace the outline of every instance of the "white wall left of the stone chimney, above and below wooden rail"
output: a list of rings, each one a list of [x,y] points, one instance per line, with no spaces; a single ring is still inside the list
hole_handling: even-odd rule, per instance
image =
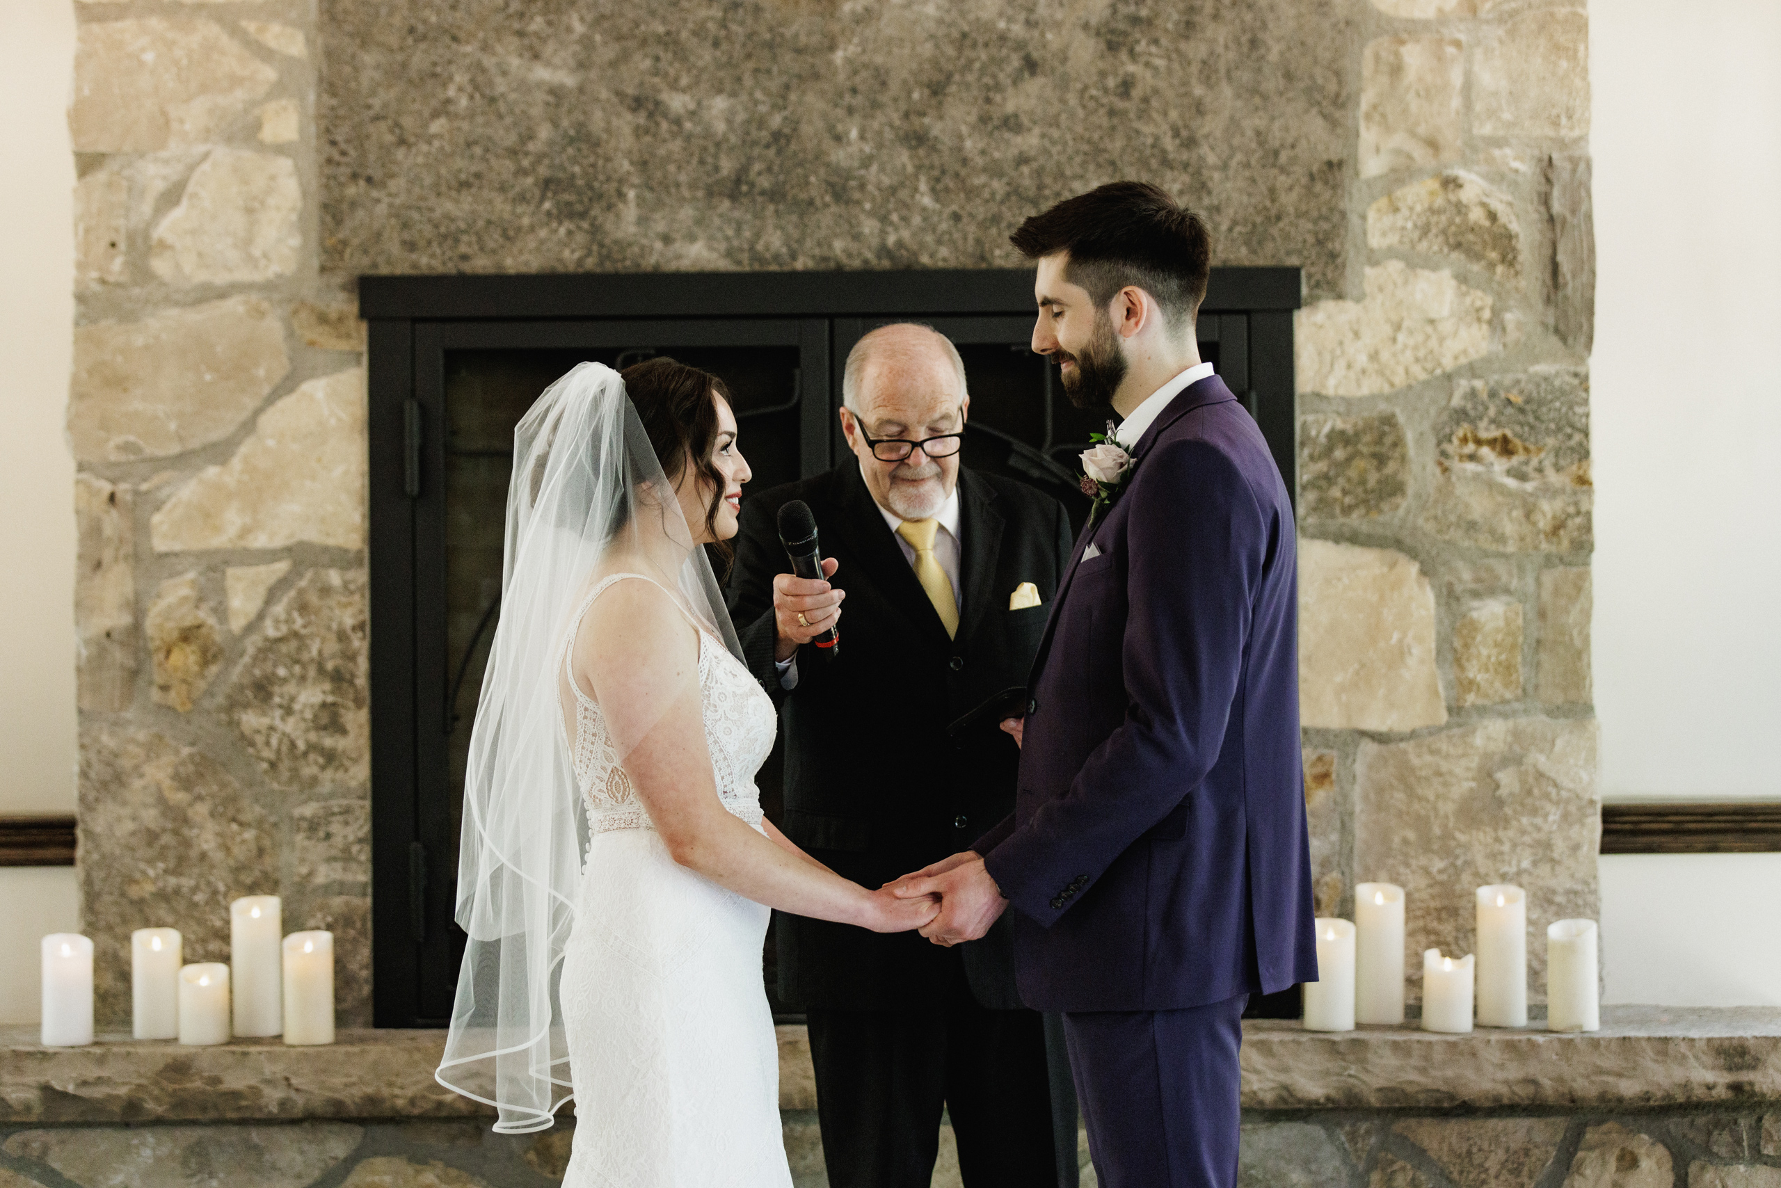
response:
[[[62,438],[75,301],[69,0],[0,4],[0,814],[75,807],[75,463]],[[75,875],[0,869],[0,1022],[37,1019],[37,937]]]

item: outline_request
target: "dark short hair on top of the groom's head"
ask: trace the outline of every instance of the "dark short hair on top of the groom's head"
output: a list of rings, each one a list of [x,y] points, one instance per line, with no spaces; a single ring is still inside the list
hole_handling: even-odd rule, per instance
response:
[[[1110,182],[1065,198],[1008,239],[1028,260],[1067,251],[1065,280],[1086,289],[1097,308],[1136,285],[1179,324],[1206,299],[1211,230],[1149,182]]]

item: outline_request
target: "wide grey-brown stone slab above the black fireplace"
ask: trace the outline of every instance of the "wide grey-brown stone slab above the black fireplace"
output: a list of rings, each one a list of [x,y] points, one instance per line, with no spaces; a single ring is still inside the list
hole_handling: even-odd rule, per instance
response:
[[[499,50],[470,7],[326,12],[328,273],[1012,265],[1022,217],[1140,169],[1222,264],[1343,281],[1345,5],[664,0]]]

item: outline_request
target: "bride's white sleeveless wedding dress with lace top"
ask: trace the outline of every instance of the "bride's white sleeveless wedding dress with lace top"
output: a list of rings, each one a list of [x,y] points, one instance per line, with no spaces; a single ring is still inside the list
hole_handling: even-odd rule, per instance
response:
[[[572,622],[579,627],[623,579],[652,581],[606,577]],[[773,748],[773,702],[716,636],[693,625],[718,796],[759,830],[753,775]],[[563,1184],[789,1188],[760,967],[768,908],[668,855],[616,764],[598,704],[568,671],[572,645],[573,631],[563,648],[573,691],[565,727],[590,844],[559,990],[575,1086]]]

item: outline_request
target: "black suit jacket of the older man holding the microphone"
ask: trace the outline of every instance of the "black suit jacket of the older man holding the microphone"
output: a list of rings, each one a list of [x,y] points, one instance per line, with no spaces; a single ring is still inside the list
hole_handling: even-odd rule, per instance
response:
[[[1013,810],[1019,750],[999,728],[999,695],[1019,689],[1070,559],[1063,506],[1013,479],[958,470],[960,616],[947,639],[896,536],[848,456],[828,474],[743,497],[730,618],[748,666],[782,707],[785,812],[780,828],[866,887],[965,850]],[[778,509],[816,517],[832,582],[848,591],[841,648],[798,650],[798,686],[773,666],[773,577],[789,574]],[[1040,606],[1008,609],[1021,582]],[[953,723],[978,711],[962,728]],[[1021,1006],[1006,923],[944,949],[921,935],[777,915],[778,994],[791,1006],[894,1010],[935,1001],[964,962],[980,1005]]]

